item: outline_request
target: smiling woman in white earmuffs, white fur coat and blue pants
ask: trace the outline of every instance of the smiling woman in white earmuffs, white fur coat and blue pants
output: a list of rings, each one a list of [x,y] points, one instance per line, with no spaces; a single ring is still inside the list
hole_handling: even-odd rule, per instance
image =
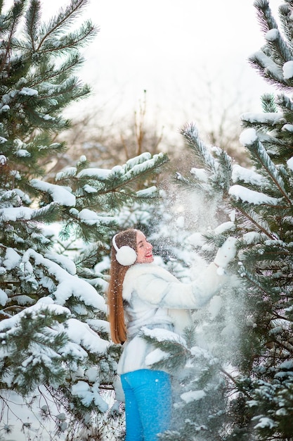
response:
[[[148,366],[147,356],[154,347],[141,337],[142,328],[177,332],[190,325],[178,323],[176,309],[184,312],[207,304],[223,282],[219,267],[233,256],[235,239],[230,237],[204,277],[185,284],[153,263],[152,245],[140,230],[113,237],[108,307],[112,340],[124,343],[117,373],[125,395],[125,441],[156,441],[158,433],[169,429],[171,418],[169,373]]]

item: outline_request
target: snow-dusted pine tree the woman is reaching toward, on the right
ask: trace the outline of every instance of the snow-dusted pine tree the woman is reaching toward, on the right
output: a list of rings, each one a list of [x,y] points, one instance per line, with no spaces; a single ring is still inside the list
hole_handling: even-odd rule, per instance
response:
[[[181,349],[178,342],[172,349],[167,340],[148,336],[167,354],[180,354],[186,371],[177,426],[163,435],[166,440],[293,440],[293,2],[280,5],[280,28],[268,0],[254,6],[266,44],[249,60],[277,92],[261,97],[262,113],[241,117],[240,143],[251,166],[204,144],[194,124],[182,130],[194,163],[189,175],[178,173],[178,182],[189,194],[203,194],[219,223],[203,233],[197,251],[209,259],[214,245],[234,235],[238,252],[219,313],[212,320],[203,313],[197,321],[195,335],[204,331],[205,348],[198,339],[188,343],[188,335]],[[156,366],[171,363],[164,357]],[[178,360],[172,366],[178,369]]]

